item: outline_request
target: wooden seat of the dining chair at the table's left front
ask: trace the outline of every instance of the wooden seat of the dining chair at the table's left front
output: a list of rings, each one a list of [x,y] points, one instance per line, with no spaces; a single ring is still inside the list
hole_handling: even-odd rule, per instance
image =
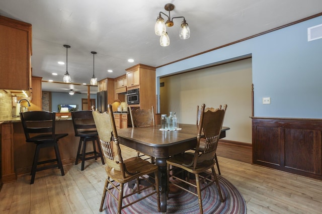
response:
[[[123,178],[121,171],[114,170],[114,168],[111,168],[109,166],[105,167],[106,173],[113,177],[113,179],[119,183],[126,183],[129,182],[135,178],[137,178],[140,175],[146,175],[149,172],[153,170],[157,170],[157,166],[154,164],[151,164],[150,162],[143,160],[139,157],[132,157],[129,159],[124,160],[125,167],[127,171],[130,173],[135,173],[134,175],[129,175],[127,173],[126,177]]]

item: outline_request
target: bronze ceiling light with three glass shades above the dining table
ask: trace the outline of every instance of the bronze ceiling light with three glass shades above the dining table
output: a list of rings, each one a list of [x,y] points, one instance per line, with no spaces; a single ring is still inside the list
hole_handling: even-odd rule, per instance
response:
[[[156,18],[156,23],[154,25],[154,32],[157,36],[161,36],[160,45],[163,47],[170,45],[170,38],[168,36],[166,28],[174,26],[173,19],[183,18],[183,22],[181,23],[181,27],[179,31],[180,39],[189,39],[190,37],[190,29],[184,17],[173,17],[171,19],[170,11],[173,11],[174,9],[175,9],[175,6],[173,4],[167,4],[165,5],[165,10],[169,11],[169,16],[163,12],[159,12],[159,16]],[[168,17],[168,20],[166,21],[166,23],[165,23],[165,20],[162,18],[161,14]]]

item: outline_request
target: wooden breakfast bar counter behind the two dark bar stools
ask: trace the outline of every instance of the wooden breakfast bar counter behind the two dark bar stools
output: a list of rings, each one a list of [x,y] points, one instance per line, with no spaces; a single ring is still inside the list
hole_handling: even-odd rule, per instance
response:
[[[0,127],[3,128],[2,137],[10,136],[11,140],[2,141],[0,158],[5,158],[2,171],[2,182],[7,183],[14,181],[17,175],[30,173],[32,160],[35,153],[35,145],[27,143],[25,133],[21,124],[20,117],[14,118],[8,116],[0,121]],[[59,118],[56,115],[56,133],[67,133],[68,136],[59,140],[59,151],[63,165],[75,163],[79,137],[75,137],[72,119]],[[4,138],[4,139],[7,139]],[[4,140],[3,139],[3,140]],[[93,146],[87,146],[87,152],[93,150]],[[41,153],[39,159],[44,159],[45,156],[54,159],[55,153],[53,150]],[[1,185],[1,178],[0,178]]]

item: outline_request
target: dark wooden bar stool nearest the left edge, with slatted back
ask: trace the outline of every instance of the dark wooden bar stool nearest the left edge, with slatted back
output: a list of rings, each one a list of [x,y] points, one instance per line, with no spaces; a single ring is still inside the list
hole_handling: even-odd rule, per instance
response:
[[[20,118],[26,137],[26,142],[36,144],[36,150],[30,173],[30,184],[34,183],[36,172],[41,170],[58,167],[61,175],[65,175],[57,142],[59,139],[66,137],[68,134],[55,133],[56,113],[45,111],[21,112]],[[39,161],[38,158],[40,149],[46,147],[54,148],[56,158]],[[53,164],[48,165],[48,163]],[[41,166],[37,167],[38,165]]]

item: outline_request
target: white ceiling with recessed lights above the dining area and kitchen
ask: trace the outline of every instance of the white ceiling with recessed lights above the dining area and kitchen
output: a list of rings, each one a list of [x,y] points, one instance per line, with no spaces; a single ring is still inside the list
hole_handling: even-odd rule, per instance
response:
[[[170,46],[161,47],[154,23],[160,11],[168,14],[167,3],[175,5],[171,17],[185,17],[191,36],[179,39],[182,20],[175,19],[175,25],[167,29]],[[321,0],[0,1],[0,15],[32,24],[34,76],[62,81],[66,65],[57,62],[66,61],[63,44],[67,44],[71,46],[68,72],[72,82],[87,84],[93,75],[91,51],[97,52],[98,80],[115,78],[135,64],[162,66],[321,13],[321,9]],[[127,62],[129,58],[134,62]]]

